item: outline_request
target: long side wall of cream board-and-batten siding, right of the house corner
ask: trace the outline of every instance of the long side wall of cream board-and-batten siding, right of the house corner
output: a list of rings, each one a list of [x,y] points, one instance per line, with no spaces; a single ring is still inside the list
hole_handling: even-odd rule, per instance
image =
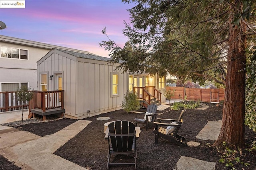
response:
[[[77,117],[84,118],[122,108],[128,86],[128,74],[121,74],[115,71],[115,68],[113,65],[104,63],[78,62]],[[118,97],[111,97],[111,72],[119,74]]]

